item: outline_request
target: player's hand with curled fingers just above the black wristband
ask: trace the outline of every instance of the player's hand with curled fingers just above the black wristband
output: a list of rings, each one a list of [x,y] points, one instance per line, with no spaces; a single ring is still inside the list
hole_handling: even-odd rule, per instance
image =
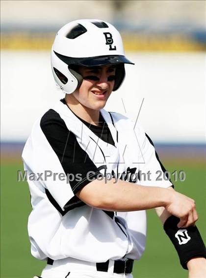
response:
[[[170,190],[171,198],[165,209],[180,218],[178,228],[187,228],[194,226],[198,220],[198,214],[196,211],[195,201],[175,190]]]

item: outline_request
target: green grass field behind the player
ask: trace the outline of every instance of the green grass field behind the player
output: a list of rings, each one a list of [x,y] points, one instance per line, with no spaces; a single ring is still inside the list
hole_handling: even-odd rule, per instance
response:
[[[206,168],[203,162],[195,164],[167,162],[170,172],[184,170],[186,180],[175,183],[178,191],[194,198],[199,212],[198,227],[206,240],[204,212],[206,211]],[[17,182],[17,170],[22,163],[5,162],[1,166],[1,278],[32,278],[40,275],[45,262],[30,255],[27,218],[31,211],[26,182]],[[165,235],[154,210],[148,211],[148,238],[146,251],[135,262],[134,278],[186,278],[187,271],[179,263],[178,255]]]

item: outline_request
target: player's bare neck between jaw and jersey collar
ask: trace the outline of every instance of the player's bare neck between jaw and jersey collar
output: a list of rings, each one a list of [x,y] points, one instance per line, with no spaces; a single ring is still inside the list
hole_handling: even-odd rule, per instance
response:
[[[66,94],[65,100],[72,112],[74,112],[78,117],[80,117],[88,123],[99,126],[99,110],[94,110],[83,106],[76,100],[76,98],[70,97],[70,95],[68,94]]]

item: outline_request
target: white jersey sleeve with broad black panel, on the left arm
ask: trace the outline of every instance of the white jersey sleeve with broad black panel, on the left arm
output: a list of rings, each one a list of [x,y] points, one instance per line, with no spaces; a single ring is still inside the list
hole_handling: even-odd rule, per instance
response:
[[[45,187],[52,204],[60,207],[58,210],[79,203],[75,194],[99,173],[75,135],[52,109],[35,124],[23,160],[29,172],[47,172],[46,179],[43,174],[44,180],[39,183]],[[94,174],[88,177],[89,171]]]

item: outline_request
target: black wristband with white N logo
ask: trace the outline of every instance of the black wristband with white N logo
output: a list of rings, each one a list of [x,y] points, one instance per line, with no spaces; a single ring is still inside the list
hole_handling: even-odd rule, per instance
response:
[[[195,256],[206,258],[206,247],[196,226],[178,228],[179,222],[178,217],[170,216],[164,223],[164,231],[178,252],[180,264],[184,269],[188,269],[187,262],[189,259]]]

